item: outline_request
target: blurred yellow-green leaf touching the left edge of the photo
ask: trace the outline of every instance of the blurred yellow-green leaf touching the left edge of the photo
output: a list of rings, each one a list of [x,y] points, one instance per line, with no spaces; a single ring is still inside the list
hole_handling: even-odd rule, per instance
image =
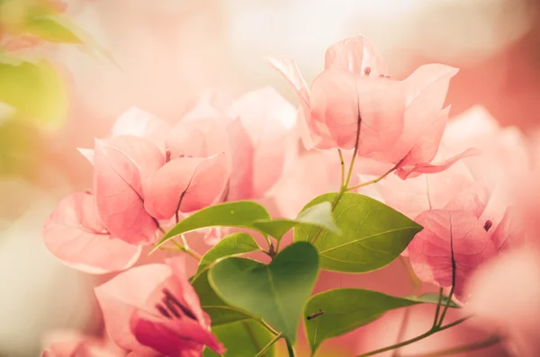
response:
[[[45,61],[0,63],[0,101],[40,126],[58,128],[67,117],[66,87]]]

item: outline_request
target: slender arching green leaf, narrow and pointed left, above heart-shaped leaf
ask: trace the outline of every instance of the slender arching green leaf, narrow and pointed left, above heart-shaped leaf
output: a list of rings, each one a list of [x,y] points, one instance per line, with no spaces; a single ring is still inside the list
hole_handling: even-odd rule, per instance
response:
[[[172,237],[191,232],[195,229],[209,227],[240,227],[252,228],[257,219],[270,219],[270,214],[260,204],[253,201],[236,201],[217,204],[198,210],[186,219],[180,221],[152,249],[156,251],[160,245]]]

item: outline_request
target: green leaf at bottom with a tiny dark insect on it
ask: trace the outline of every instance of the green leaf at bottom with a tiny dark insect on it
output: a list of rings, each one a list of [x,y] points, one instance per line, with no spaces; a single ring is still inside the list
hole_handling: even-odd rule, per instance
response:
[[[386,311],[419,304],[382,292],[362,289],[336,289],[314,295],[304,307],[304,318],[322,311],[322,315],[304,320],[306,335],[314,353],[320,344],[347,334],[382,317]]]

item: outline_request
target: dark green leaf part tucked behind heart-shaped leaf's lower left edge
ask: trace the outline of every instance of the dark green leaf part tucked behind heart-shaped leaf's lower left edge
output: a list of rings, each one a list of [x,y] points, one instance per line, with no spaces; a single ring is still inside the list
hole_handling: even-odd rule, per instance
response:
[[[211,318],[211,326],[221,326],[252,318],[238,308],[230,307],[216,295],[208,282],[208,271],[202,272],[192,282],[192,285],[197,295],[199,295],[202,309]]]

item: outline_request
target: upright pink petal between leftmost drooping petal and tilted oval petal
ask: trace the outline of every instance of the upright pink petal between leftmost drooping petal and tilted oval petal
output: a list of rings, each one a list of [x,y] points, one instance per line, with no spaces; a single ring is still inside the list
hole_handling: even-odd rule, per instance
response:
[[[135,138],[135,137],[118,137]],[[139,138],[139,140],[144,140]],[[102,141],[95,143],[94,188],[97,210],[103,225],[113,237],[130,244],[146,244],[153,240],[157,222],[144,210],[142,178],[163,160],[159,152],[147,151],[133,140],[128,153]],[[144,140],[146,141],[146,140]],[[149,143],[149,142],[148,142]],[[157,147],[154,147],[157,150]],[[148,155],[150,154],[150,155]],[[129,155],[129,156],[128,156]],[[140,163],[140,165],[138,165]]]

